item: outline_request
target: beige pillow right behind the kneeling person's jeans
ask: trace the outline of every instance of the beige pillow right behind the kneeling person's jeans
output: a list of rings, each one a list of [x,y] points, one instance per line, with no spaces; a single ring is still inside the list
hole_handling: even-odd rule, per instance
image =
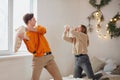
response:
[[[91,65],[92,65],[92,69],[93,69],[93,72],[96,73],[98,72],[99,70],[103,69],[104,66],[105,66],[105,62],[98,59],[97,57],[93,56],[91,59]]]

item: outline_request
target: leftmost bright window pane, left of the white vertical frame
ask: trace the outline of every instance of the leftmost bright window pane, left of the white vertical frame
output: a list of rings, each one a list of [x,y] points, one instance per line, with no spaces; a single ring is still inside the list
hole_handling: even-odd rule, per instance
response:
[[[0,50],[8,50],[8,0],[0,0]]]

